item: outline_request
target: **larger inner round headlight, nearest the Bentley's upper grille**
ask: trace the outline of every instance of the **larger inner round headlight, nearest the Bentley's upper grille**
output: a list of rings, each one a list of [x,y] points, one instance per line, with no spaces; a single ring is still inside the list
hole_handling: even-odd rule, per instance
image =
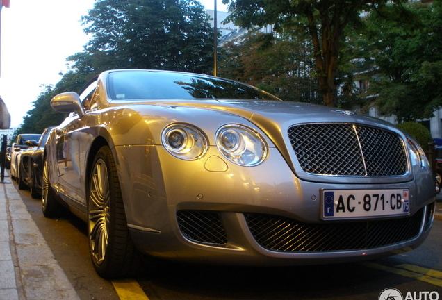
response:
[[[240,125],[225,125],[216,133],[216,147],[233,163],[252,167],[267,157],[267,147],[259,133]]]

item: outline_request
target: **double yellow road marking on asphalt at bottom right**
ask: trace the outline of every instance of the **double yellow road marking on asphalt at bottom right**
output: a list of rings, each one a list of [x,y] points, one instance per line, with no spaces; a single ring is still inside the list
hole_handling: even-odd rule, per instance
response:
[[[424,281],[426,283],[431,283],[432,285],[442,287],[442,272],[436,270],[406,264],[397,265],[395,267],[388,267],[386,265],[380,265],[371,262],[365,262],[362,264],[366,265],[367,267],[373,267],[374,269],[380,269],[382,271],[414,278],[419,281]]]

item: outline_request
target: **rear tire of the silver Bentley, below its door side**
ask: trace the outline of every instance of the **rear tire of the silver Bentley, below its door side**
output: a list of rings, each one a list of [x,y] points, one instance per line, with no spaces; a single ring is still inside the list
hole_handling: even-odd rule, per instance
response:
[[[42,178],[42,211],[44,217],[55,218],[60,217],[64,213],[64,208],[58,202],[57,195],[51,188],[49,181],[49,166],[47,158],[44,158],[43,163],[43,178]]]

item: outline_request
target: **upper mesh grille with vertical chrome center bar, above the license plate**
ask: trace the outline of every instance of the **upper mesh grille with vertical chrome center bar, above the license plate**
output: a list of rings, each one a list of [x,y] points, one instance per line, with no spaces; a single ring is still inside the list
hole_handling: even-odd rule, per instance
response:
[[[402,139],[359,124],[302,124],[288,128],[302,170],[338,176],[400,176],[407,173]]]

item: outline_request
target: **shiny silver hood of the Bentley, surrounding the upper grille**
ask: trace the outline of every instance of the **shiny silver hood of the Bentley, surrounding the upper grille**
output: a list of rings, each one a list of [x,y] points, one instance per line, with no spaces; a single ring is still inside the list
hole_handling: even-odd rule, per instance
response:
[[[113,103],[115,104],[115,103]],[[321,181],[324,176],[317,174],[303,174],[293,147],[291,146],[288,130],[292,126],[300,124],[320,124],[320,123],[341,123],[359,124],[362,126],[375,126],[386,131],[393,131],[404,138],[398,128],[381,119],[359,115],[347,110],[329,108],[310,103],[297,103],[286,101],[251,101],[251,100],[231,100],[231,99],[193,99],[193,100],[152,100],[152,101],[131,101],[125,103],[125,108],[136,111],[139,115],[152,117],[149,124],[158,126],[161,131],[165,122],[177,122],[186,120],[203,129],[215,133],[223,122],[211,122],[211,120],[222,120],[222,115],[228,114],[232,117],[226,118],[225,122],[240,123],[239,118],[245,119],[249,124],[254,124],[255,129],[261,131],[268,138],[268,147],[276,147],[285,158],[288,165],[300,178],[308,181]],[[121,103],[120,103],[121,108]],[[213,112],[213,114],[211,114]],[[179,117],[181,115],[181,117]],[[159,118],[158,116],[162,116]],[[153,122],[157,117],[159,122]],[[221,117],[221,118],[219,118]],[[157,124],[155,124],[157,123]],[[207,125],[207,128],[204,127]],[[247,124],[247,123],[245,123]],[[154,128],[154,127],[152,127]],[[210,128],[210,129],[209,129]],[[411,173],[407,176],[398,176],[395,181],[402,182],[411,178]],[[379,177],[382,180],[382,176]],[[343,176],[327,176],[327,182],[342,181]],[[374,182],[375,179],[354,178],[348,176],[349,182],[355,181]],[[376,179],[377,180],[377,179]]]

